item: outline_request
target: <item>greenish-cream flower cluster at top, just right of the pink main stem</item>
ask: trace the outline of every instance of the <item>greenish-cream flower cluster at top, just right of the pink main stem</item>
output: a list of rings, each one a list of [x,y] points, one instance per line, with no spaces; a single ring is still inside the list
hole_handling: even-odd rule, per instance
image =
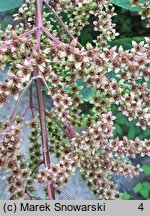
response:
[[[63,0],[52,2],[47,1],[47,3],[50,7],[54,8],[60,16],[61,12],[66,13],[68,20],[64,21],[64,24],[75,37],[80,36],[82,29],[89,24],[93,25],[94,31],[101,33],[94,41],[94,43],[100,48],[105,46],[109,40],[114,39],[115,36],[118,35],[115,30],[115,24],[112,23],[112,17],[116,14],[114,13],[114,7],[111,0]],[[51,14],[53,15],[53,13]],[[49,13],[46,13],[45,16],[49,18]],[[94,16],[95,18],[93,23],[90,22],[91,16]],[[51,18],[51,21],[54,22],[54,19]],[[49,28],[53,30],[51,22],[47,24],[46,19],[44,23],[49,25]],[[57,31],[53,31],[54,35],[60,37],[66,42],[69,42],[63,29],[59,28],[59,26],[56,28]]]

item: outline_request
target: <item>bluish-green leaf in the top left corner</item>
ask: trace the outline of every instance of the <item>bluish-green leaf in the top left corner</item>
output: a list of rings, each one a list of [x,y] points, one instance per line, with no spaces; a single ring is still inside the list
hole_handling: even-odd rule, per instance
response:
[[[23,4],[23,0],[0,0],[0,12],[18,8]]]

